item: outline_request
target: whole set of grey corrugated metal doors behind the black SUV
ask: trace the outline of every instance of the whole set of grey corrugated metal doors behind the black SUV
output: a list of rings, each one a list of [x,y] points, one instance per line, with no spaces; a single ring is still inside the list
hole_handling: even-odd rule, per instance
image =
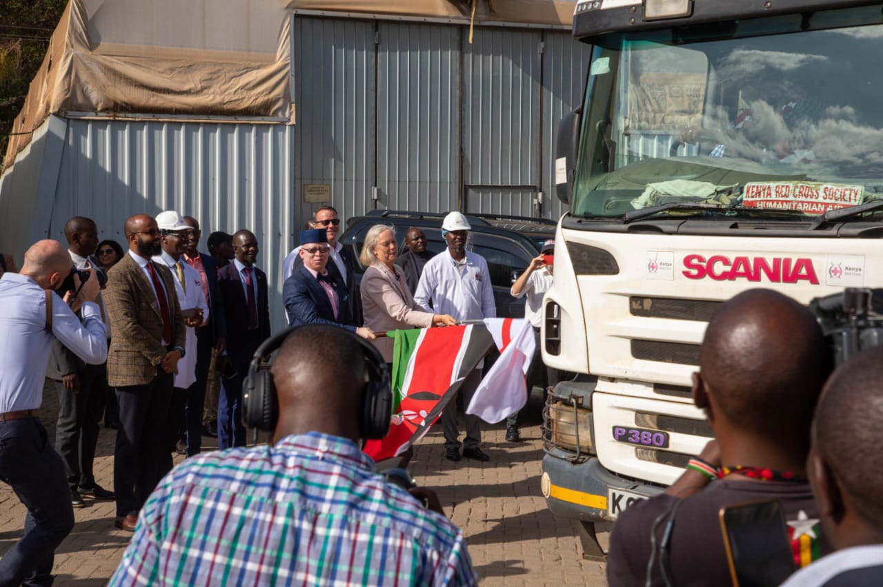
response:
[[[296,16],[292,29],[301,219],[321,205],[306,184],[328,186],[343,218],[561,215],[555,133],[590,56],[569,32],[482,27],[471,45],[464,26]]]

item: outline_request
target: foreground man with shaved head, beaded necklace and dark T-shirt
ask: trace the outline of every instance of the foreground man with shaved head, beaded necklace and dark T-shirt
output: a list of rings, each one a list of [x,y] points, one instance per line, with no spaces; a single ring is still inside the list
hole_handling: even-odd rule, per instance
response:
[[[826,553],[805,464],[830,362],[819,324],[796,301],[752,289],[721,305],[708,323],[691,390],[716,442],[664,494],[616,520],[611,587],[730,584],[719,516],[746,502],[781,505],[796,561]]]

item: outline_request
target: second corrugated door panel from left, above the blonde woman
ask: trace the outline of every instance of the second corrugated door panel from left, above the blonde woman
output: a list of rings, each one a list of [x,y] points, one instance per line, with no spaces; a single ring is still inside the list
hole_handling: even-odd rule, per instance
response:
[[[380,23],[378,32],[377,207],[454,210],[462,29]]]

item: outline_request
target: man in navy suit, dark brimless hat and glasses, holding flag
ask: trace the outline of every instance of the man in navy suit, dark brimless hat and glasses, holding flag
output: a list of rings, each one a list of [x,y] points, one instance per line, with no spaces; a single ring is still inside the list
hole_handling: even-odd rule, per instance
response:
[[[290,326],[329,324],[341,326],[362,338],[374,340],[374,332],[358,326],[353,319],[349,292],[337,271],[328,271],[326,231],[320,228],[300,231],[298,255],[303,264],[285,279],[282,295]]]

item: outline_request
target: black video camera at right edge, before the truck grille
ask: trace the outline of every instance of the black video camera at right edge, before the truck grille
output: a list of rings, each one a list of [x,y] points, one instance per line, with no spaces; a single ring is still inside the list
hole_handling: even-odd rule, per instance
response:
[[[825,334],[834,367],[866,348],[883,346],[883,289],[847,287],[815,298],[810,311]]]

